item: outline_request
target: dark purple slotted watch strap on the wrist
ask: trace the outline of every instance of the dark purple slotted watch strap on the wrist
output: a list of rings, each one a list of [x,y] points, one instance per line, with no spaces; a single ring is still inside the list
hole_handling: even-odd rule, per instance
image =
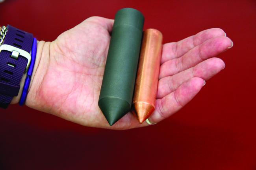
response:
[[[7,26],[7,34],[2,45],[7,44],[30,53],[33,35],[15,27]],[[0,107],[7,108],[14,96],[17,96],[20,81],[28,60],[21,55],[17,59],[10,57],[10,51],[0,52]]]

